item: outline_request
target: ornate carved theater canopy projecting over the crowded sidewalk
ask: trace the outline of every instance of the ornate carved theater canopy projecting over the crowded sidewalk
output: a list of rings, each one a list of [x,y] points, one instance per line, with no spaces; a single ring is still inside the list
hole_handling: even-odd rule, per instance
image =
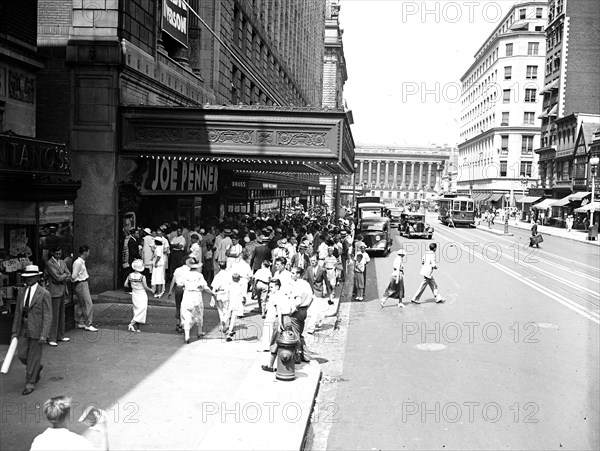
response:
[[[259,105],[127,106],[120,153],[216,163],[221,170],[352,174],[354,140],[341,110]]]

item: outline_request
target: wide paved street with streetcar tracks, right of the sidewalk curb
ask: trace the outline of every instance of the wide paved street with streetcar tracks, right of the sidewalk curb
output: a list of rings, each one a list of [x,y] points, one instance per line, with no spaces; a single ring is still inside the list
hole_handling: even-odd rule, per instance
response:
[[[431,222],[448,301],[382,309],[395,254],[374,260],[368,301],[349,309],[327,449],[597,449],[598,248]],[[395,240],[407,302],[429,241]]]

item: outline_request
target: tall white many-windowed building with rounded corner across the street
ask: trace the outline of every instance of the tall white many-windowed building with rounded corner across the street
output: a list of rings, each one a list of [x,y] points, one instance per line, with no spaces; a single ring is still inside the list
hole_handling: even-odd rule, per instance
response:
[[[547,4],[515,4],[461,77],[458,192],[496,207],[537,180]]]

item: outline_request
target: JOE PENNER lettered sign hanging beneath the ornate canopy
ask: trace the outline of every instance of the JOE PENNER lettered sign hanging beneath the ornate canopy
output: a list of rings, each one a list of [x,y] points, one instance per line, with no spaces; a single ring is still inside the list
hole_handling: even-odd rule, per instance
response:
[[[144,194],[213,194],[217,192],[219,169],[214,164],[186,160],[150,160]]]

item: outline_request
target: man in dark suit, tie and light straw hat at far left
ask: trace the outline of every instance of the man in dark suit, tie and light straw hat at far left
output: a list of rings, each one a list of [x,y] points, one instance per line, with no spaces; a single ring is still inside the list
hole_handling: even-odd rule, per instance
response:
[[[43,345],[52,325],[52,300],[50,293],[38,284],[41,275],[37,265],[28,265],[21,274],[26,288],[17,295],[12,328],[12,338],[18,340],[17,356],[26,366],[23,395],[33,392],[40,381]]]

